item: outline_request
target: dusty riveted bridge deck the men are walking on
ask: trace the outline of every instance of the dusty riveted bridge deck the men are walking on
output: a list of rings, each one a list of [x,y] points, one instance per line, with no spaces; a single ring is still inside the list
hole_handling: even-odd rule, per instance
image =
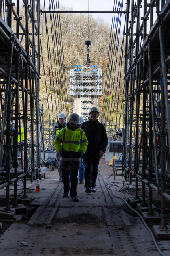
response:
[[[121,172],[110,176],[112,168],[101,159],[96,193],[86,194],[84,185],[78,184],[79,202],[62,197],[63,184],[58,181],[58,170],[47,170],[40,181],[40,193],[35,192],[35,182],[28,181],[28,197],[35,208],[30,220],[26,216],[15,221],[0,237],[0,255],[56,255],[56,256],[158,256],[151,235],[139,217],[116,198],[134,197],[133,188],[127,193]],[[110,178],[108,178],[110,176]],[[107,182],[110,184],[107,185]],[[107,189],[110,187],[110,189]],[[11,188],[11,194],[13,188]],[[22,187],[19,189],[22,194]],[[3,197],[5,191],[1,191]],[[38,207],[39,206],[39,207]],[[4,224],[2,222],[2,224]],[[157,241],[164,255],[170,255],[169,241]]]

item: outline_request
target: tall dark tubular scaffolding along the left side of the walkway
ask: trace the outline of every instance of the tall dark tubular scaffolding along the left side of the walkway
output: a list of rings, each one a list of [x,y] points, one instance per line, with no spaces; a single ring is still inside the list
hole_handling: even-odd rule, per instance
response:
[[[23,20],[21,3],[26,17]],[[11,0],[0,1],[0,189],[6,187],[5,210],[10,210],[10,184],[14,182],[13,205],[17,206],[18,180],[23,178],[23,198],[26,199],[26,176],[31,174],[32,182],[33,173],[38,175],[40,170],[39,4],[39,1],[28,4],[18,0],[14,7]],[[21,158],[18,159],[19,150]]]

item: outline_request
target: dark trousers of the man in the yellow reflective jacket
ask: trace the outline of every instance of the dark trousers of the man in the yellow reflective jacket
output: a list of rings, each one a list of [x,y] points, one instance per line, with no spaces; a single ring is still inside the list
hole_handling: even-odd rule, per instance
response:
[[[71,171],[71,188],[69,184],[69,173]],[[78,183],[78,169],[77,170],[62,170],[62,179],[64,184],[64,191],[69,192],[70,196],[77,195],[77,183]]]

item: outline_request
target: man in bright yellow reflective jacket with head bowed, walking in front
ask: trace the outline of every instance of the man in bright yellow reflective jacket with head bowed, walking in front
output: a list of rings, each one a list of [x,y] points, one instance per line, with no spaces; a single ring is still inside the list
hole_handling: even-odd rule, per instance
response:
[[[64,197],[70,196],[73,201],[79,201],[77,197],[78,169],[81,166],[81,157],[88,145],[85,132],[79,127],[79,115],[72,113],[67,126],[60,130],[54,141],[56,150],[60,154],[62,167],[62,179],[64,184]],[[69,185],[69,173],[71,171],[71,188]]]

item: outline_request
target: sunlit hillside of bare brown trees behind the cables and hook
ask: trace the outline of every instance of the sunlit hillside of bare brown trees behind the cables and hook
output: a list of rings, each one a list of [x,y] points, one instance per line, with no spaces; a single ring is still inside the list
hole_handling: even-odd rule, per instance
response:
[[[99,67],[102,68],[104,92],[110,42],[110,26],[108,24],[104,24],[103,20],[94,19],[93,17],[91,17],[91,15],[89,15],[88,23],[87,15],[60,14],[63,45],[63,49],[61,48],[61,51],[63,51],[64,55],[67,88],[67,100],[64,100],[64,98],[62,97],[62,89],[60,85],[61,78],[59,76],[56,77],[55,74],[55,67],[56,65],[59,65],[59,63],[57,63],[57,61],[55,60],[53,48],[53,41],[56,34],[55,24],[52,24],[49,15],[46,16],[47,21],[45,21],[45,17],[43,15],[41,15],[40,18],[40,30],[42,32],[41,44],[43,55],[43,61],[41,61],[40,98],[41,104],[43,104],[45,110],[45,121],[49,121],[50,112],[51,122],[55,122],[57,120],[58,112],[63,111],[63,106],[66,106],[66,104],[68,104],[70,113],[72,111],[73,99],[69,96],[69,71],[70,68],[72,69],[74,65],[84,65],[84,62],[86,61],[87,47],[85,46],[85,40],[87,39],[91,40],[91,46],[89,49],[91,65],[99,65]],[[87,26],[87,24],[89,24],[89,27]],[[49,52],[51,53],[51,57],[49,57]],[[51,61],[50,68],[48,63],[49,58]],[[121,72],[121,76],[123,79],[123,72]],[[123,84],[121,86],[123,86]],[[103,96],[99,98],[100,107],[102,107],[102,101]]]

